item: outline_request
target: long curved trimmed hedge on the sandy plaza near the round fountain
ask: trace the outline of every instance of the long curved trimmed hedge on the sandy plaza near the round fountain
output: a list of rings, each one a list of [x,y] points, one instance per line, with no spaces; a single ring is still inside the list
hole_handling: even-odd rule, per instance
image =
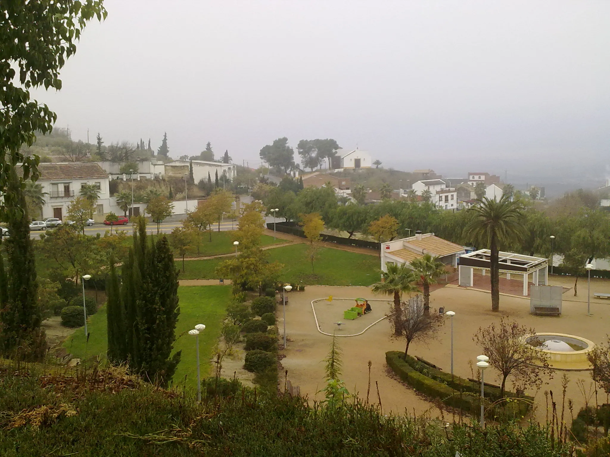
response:
[[[451,385],[459,386],[460,389],[454,389],[449,383],[445,382],[447,373],[443,373],[440,370],[436,370],[423,364],[411,356],[407,355],[407,360],[412,364],[420,364],[425,367],[422,368],[423,372],[416,370],[410,363],[405,361],[403,352],[389,351],[386,352],[386,363],[392,368],[393,372],[405,381],[407,384],[412,386],[415,390],[422,392],[423,394],[429,395],[440,399],[445,405],[453,406],[454,408],[462,409],[467,413],[477,415],[481,408],[481,402],[478,395],[478,391],[473,392],[473,383],[457,376],[453,377]],[[434,377],[431,375],[434,372]],[[442,375],[442,377],[441,377]],[[451,378],[451,375],[448,375]],[[435,379],[436,377],[436,379]],[[443,381],[440,381],[443,379]],[[486,386],[486,416],[490,419],[498,419],[498,417],[521,417],[525,416],[529,409],[529,400],[532,397],[525,397],[526,401],[519,402],[503,402],[501,405],[490,407],[489,400],[495,401],[493,395],[487,396],[488,389]],[[516,396],[512,394],[513,396]],[[499,394],[498,394],[499,396]],[[508,394],[507,394],[508,397]]]

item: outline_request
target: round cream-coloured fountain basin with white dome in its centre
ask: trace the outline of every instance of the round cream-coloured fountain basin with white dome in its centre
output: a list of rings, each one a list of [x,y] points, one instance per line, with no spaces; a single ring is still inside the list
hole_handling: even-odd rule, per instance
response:
[[[525,338],[526,344],[544,352],[553,368],[564,370],[588,370],[591,368],[587,354],[594,342],[565,333],[536,333]]]

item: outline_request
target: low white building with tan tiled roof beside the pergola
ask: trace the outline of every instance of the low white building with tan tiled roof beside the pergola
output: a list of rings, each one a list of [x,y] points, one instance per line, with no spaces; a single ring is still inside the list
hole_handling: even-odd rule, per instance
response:
[[[446,265],[458,266],[458,257],[464,247],[435,236],[434,233],[417,233],[409,238],[381,243],[381,269],[387,271],[387,263],[410,264],[412,260],[430,254],[439,257]]]

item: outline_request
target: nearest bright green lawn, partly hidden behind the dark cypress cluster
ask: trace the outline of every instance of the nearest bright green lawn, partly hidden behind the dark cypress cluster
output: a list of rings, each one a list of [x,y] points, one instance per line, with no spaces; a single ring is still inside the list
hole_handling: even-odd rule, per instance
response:
[[[195,386],[197,379],[195,337],[182,335],[195,328],[196,324],[205,324],[206,330],[199,335],[199,360],[201,362],[201,377],[212,372],[210,358],[212,348],[218,341],[220,330],[226,312],[226,306],[231,301],[230,286],[195,286],[178,288],[180,297],[180,317],[176,325],[174,350],[182,350],[182,359],[174,374],[174,383],[184,383],[187,375],[187,386]],[[74,357],[91,358],[99,355],[106,358],[106,306],[87,319],[89,341],[85,344],[83,328],[77,330],[64,342],[64,347]]]

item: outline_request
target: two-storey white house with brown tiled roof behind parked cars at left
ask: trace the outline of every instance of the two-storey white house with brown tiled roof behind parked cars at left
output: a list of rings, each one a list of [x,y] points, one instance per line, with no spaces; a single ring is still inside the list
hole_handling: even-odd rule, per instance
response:
[[[108,174],[97,163],[41,163],[38,165],[45,204],[42,207],[43,219],[66,217],[68,206],[75,196],[81,193],[83,184],[93,184],[99,188],[99,199],[93,219],[104,220],[110,211],[110,189]]]

